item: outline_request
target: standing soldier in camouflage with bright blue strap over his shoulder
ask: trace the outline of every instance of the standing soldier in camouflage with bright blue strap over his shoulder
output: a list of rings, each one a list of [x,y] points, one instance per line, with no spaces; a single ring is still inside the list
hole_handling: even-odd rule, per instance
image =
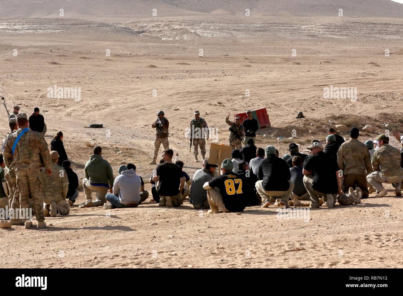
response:
[[[17,188],[19,190],[19,199],[22,209],[25,213],[29,213],[29,195],[33,200],[37,228],[46,227],[43,212],[43,187],[41,171],[42,163],[46,172],[52,174],[52,161],[48,144],[39,132],[34,132],[28,128],[27,114],[20,113],[17,115],[18,130],[12,133],[4,145],[4,162],[10,169],[14,169],[17,174]],[[13,197],[12,203],[15,204],[17,196]],[[15,207],[15,206],[13,206]],[[32,226],[29,217],[23,217],[25,220],[25,228]]]

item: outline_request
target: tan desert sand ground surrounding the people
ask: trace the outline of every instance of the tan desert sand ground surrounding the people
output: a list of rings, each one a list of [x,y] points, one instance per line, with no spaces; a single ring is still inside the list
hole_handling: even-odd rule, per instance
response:
[[[80,180],[93,142],[115,175],[120,164],[133,162],[148,182],[158,110],[165,111],[170,147],[191,176],[201,166],[184,136],[194,110],[218,128],[217,143],[228,143],[227,113],[266,107],[272,127],[259,130],[256,145],[274,145],[280,155],[288,152],[293,129],[301,150],[311,139],[324,141],[330,122],[370,124],[374,132],[361,132],[361,141],[384,132],[384,123],[403,131],[401,19],[200,14],[0,19],[0,95],[10,112],[12,99],[20,112],[40,108],[49,147],[63,131]],[[81,87],[81,100],[48,98],[54,85]],[[357,100],[324,99],[330,85],[357,87]],[[298,111],[306,118],[296,120]],[[5,135],[6,112],[0,112]],[[91,123],[104,128],[86,128]],[[391,144],[399,147],[395,139]],[[278,219],[274,206],[208,215],[188,200],[179,208],[146,201],[108,217],[102,207],[78,208],[80,185],[70,215],[46,218],[46,229],[0,229],[0,257],[7,267],[41,268],[401,267],[403,204],[387,189],[386,197],[372,194],[358,205],[311,209],[305,222]]]

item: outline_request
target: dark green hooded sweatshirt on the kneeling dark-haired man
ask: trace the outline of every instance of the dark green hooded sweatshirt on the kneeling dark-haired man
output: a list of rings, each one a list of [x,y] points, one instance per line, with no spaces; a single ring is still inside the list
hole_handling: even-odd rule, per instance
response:
[[[113,187],[113,172],[109,162],[102,158],[101,155],[93,154],[89,157],[89,161],[85,164],[85,178],[92,185],[102,186],[108,185],[108,188]]]

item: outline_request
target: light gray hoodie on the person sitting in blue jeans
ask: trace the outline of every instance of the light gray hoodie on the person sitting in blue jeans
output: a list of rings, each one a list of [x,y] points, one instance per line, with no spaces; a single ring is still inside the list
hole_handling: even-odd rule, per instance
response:
[[[133,169],[123,171],[113,183],[113,194],[119,196],[123,205],[139,203],[140,189],[141,179]]]

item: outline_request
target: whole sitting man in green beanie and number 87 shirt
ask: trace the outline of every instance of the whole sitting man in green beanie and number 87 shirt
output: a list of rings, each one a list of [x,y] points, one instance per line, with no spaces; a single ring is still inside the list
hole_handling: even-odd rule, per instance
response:
[[[242,179],[235,174],[233,162],[226,158],[222,161],[222,175],[204,183],[203,188],[207,190],[207,199],[210,209],[207,213],[216,214],[241,212],[246,207],[246,198],[243,194]]]

